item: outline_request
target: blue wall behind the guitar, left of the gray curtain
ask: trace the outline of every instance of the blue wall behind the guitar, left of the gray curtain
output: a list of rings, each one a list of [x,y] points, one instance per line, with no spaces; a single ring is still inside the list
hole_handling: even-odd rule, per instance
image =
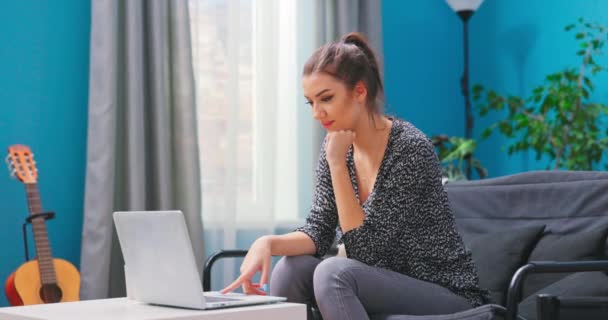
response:
[[[39,170],[53,255],[80,257],[90,3],[84,0],[0,2],[0,153],[29,145]],[[24,261],[24,186],[0,169],[0,280]],[[31,241],[31,239],[30,239]],[[32,242],[30,242],[31,244]],[[30,255],[33,247],[30,246]],[[0,306],[6,306],[4,290]]]

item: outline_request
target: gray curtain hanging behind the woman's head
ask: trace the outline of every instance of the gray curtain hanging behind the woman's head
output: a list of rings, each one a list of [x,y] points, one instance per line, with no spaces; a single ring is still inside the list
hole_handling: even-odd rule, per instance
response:
[[[335,41],[349,32],[363,33],[378,56],[380,72],[382,58],[382,0],[315,0],[317,46]],[[382,76],[382,74],[381,74]],[[325,130],[315,123],[313,144],[320,146]],[[313,161],[319,159],[318,148],[313,148]]]

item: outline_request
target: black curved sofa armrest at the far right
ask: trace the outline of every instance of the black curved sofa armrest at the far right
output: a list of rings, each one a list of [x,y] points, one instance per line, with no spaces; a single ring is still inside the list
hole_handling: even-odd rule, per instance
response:
[[[507,291],[507,314],[505,320],[515,320],[517,304],[521,299],[521,288],[526,277],[531,273],[562,273],[608,271],[608,260],[593,261],[530,261],[517,269]]]

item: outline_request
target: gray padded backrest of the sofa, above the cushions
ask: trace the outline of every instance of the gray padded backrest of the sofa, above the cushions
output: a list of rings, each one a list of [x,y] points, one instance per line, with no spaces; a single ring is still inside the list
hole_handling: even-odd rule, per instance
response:
[[[608,172],[532,171],[445,189],[465,235],[540,224],[570,234],[608,225]]]

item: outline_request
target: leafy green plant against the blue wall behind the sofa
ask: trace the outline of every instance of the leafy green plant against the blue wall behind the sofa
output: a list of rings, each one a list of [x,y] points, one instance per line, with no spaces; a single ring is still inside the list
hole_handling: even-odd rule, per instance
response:
[[[608,107],[590,97],[595,89],[592,79],[606,71],[596,58],[602,55],[607,33],[605,27],[582,18],[565,31],[576,31],[580,66],[547,75],[526,99],[481,85],[473,87],[473,99],[480,102],[480,116],[506,110],[505,118],[486,128],[482,137],[498,130],[511,138],[509,155],[534,150],[536,159],[546,156],[553,169],[592,170],[608,147]]]

